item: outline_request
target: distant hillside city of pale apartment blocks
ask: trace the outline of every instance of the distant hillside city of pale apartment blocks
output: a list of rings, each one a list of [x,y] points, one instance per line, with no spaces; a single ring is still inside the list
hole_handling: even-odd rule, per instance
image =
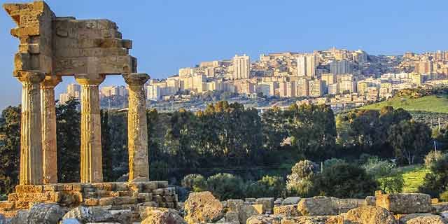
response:
[[[151,79],[146,97],[151,102],[188,102],[207,92],[229,92],[248,99],[297,97],[297,104],[330,104],[338,109],[377,102],[398,90],[426,85],[448,85],[448,51],[369,55],[363,50],[331,48],[271,53],[255,61],[235,55],[200,62],[179,69],[174,76]],[[124,85],[100,90],[102,98],[126,97],[127,92]],[[70,97],[80,97],[79,85],[68,85],[59,102]]]

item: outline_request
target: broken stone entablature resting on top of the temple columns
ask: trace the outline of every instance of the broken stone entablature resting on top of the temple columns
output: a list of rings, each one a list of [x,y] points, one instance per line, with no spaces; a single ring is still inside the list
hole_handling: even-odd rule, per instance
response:
[[[15,72],[38,70],[46,75],[122,74],[137,72],[115,22],[57,17],[44,1],[3,5],[18,27]]]

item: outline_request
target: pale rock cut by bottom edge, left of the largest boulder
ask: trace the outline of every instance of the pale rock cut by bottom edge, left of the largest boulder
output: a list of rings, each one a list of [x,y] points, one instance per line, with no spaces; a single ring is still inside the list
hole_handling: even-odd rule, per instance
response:
[[[151,208],[146,212],[147,216],[141,224],[187,224],[174,209]]]

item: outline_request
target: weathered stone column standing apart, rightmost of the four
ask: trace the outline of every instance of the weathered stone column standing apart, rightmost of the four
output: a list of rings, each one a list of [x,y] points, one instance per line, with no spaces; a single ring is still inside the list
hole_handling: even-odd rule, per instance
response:
[[[127,113],[127,148],[129,151],[129,181],[149,181],[148,124],[146,123],[146,73],[123,75],[129,85]]]

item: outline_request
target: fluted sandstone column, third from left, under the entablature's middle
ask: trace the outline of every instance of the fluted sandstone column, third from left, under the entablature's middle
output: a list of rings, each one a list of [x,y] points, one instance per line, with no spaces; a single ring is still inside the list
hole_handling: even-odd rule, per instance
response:
[[[102,75],[75,76],[81,85],[81,183],[103,181],[99,84]]]

